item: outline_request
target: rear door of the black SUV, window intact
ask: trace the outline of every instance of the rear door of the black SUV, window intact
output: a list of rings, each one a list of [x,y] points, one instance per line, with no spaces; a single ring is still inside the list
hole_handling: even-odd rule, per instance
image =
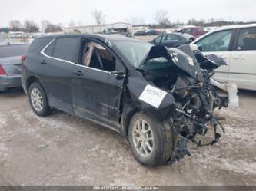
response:
[[[73,114],[71,77],[78,50],[77,37],[54,39],[42,51],[42,82],[48,92],[50,106]]]

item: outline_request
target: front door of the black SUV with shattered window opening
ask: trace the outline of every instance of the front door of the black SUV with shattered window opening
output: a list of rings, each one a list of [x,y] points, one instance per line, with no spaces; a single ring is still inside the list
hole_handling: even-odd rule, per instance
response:
[[[75,65],[75,73],[72,80],[75,114],[103,123],[108,127],[113,127],[114,125],[115,128],[118,128],[125,68],[122,67],[121,61],[115,57],[115,54],[104,44],[100,44],[100,51],[108,52],[106,58],[103,58],[102,54],[95,56],[95,50],[99,48],[97,47],[94,48],[91,60],[88,61],[86,55],[91,48],[88,48],[88,43],[99,44],[99,42],[95,41],[88,42],[88,39],[81,41],[80,64]],[[106,59],[108,61],[105,61]],[[86,64],[85,60],[88,61],[88,64]],[[103,65],[103,68],[99,65]],[[124,73],[120,75],[121,71]]]

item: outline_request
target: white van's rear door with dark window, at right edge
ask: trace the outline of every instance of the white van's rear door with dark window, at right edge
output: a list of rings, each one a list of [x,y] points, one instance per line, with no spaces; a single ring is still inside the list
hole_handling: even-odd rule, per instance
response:
[[[241,28],[231,52],[229,81],[238,88],[256,90],[256,27]]]

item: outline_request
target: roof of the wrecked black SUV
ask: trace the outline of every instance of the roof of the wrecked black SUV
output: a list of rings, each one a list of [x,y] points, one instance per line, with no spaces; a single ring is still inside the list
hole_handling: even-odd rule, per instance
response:
[[[140,41],[135,38],[128,38],[124,35],[101,35],[101,34],[91,34],[91,33],[85,33],[85,34],[62,34],[62,35],[46,35],[38,38],[46,38],[46,37],[53,37],[53,38],[62,38],[62,37],[84,37],[84,38],[96,38],[101,41],[105,41],[105,39],[108,39],[108,41]]]

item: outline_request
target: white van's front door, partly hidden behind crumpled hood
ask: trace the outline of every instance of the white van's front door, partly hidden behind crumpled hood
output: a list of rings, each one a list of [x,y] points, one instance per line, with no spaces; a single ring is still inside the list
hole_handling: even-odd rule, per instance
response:
[[[227,66],[221,66],[216,70],[214,79],[221,82],[228,82],[228,71],[231,66],[231,46],[232,39],[234,38],[234,30],[216,31],[204,38],[195,41],[194,44],[198,45],[198,48],[202,53],[207,56],[209,54],[216,54],[224,59],[228,64]]]

